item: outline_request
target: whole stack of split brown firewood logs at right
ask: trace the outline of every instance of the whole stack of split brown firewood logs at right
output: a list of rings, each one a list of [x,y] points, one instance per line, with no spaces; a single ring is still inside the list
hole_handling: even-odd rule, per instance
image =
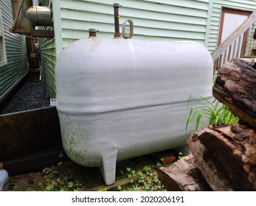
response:
[[[159,169],[167,191],[256,191],[254,60],[229,60],[218,71],[212,93],[241,121],[209,125],[190,135],[192,154]]]

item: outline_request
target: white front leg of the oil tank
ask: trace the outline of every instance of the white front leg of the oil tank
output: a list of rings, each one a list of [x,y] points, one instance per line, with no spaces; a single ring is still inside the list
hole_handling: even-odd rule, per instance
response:
[[[105,152],[103,154],[103,165],[99,166],[100,172],[103,175],[105,185],[112,185],[116,180],[116,163],[117,150],[113,152]]]

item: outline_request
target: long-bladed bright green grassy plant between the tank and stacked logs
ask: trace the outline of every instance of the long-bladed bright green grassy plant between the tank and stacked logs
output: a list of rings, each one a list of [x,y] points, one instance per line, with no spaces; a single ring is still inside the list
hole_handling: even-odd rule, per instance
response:
[[[190,95],[191,98],[192,95]],[[221,104],[215,100],[215,104],[210,102],[203,96],[198,96],[204,100],[205,104],[196,105],[191,108],[189,117],[187,118],[187,127],[190,122],[196,118],[195,130],[198,129],[201,118],[209,118],[209,124],[223,123],[223,124],[234,124],[238,123],[239,118],[231,113],[225,104]]]

